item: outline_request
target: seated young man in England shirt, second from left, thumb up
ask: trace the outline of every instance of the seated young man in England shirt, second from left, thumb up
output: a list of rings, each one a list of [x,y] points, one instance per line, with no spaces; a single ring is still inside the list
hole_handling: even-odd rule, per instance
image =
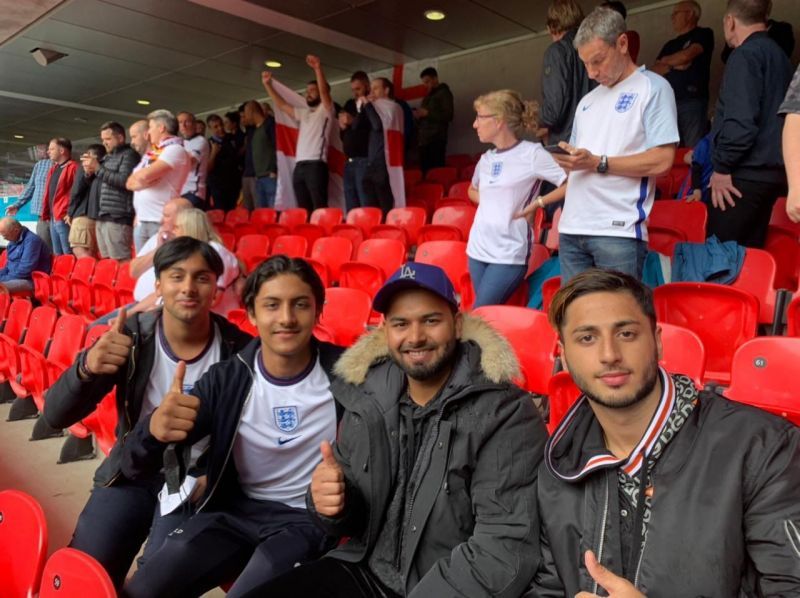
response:
[[[126,475],[158,471],[168,443],[210,434],[211,448],[197,513],[137,571],[126,596],[198,596],[232,579],[228,596],[241,596],[329,547],[305,505],[320,443],[336,436],[330,384],[341,350],[312,336],[324,301],[304,260],[262,262],[244,290],[260,338],[211,368],[190,394],[179,369],[159,408],[136,426]]]

